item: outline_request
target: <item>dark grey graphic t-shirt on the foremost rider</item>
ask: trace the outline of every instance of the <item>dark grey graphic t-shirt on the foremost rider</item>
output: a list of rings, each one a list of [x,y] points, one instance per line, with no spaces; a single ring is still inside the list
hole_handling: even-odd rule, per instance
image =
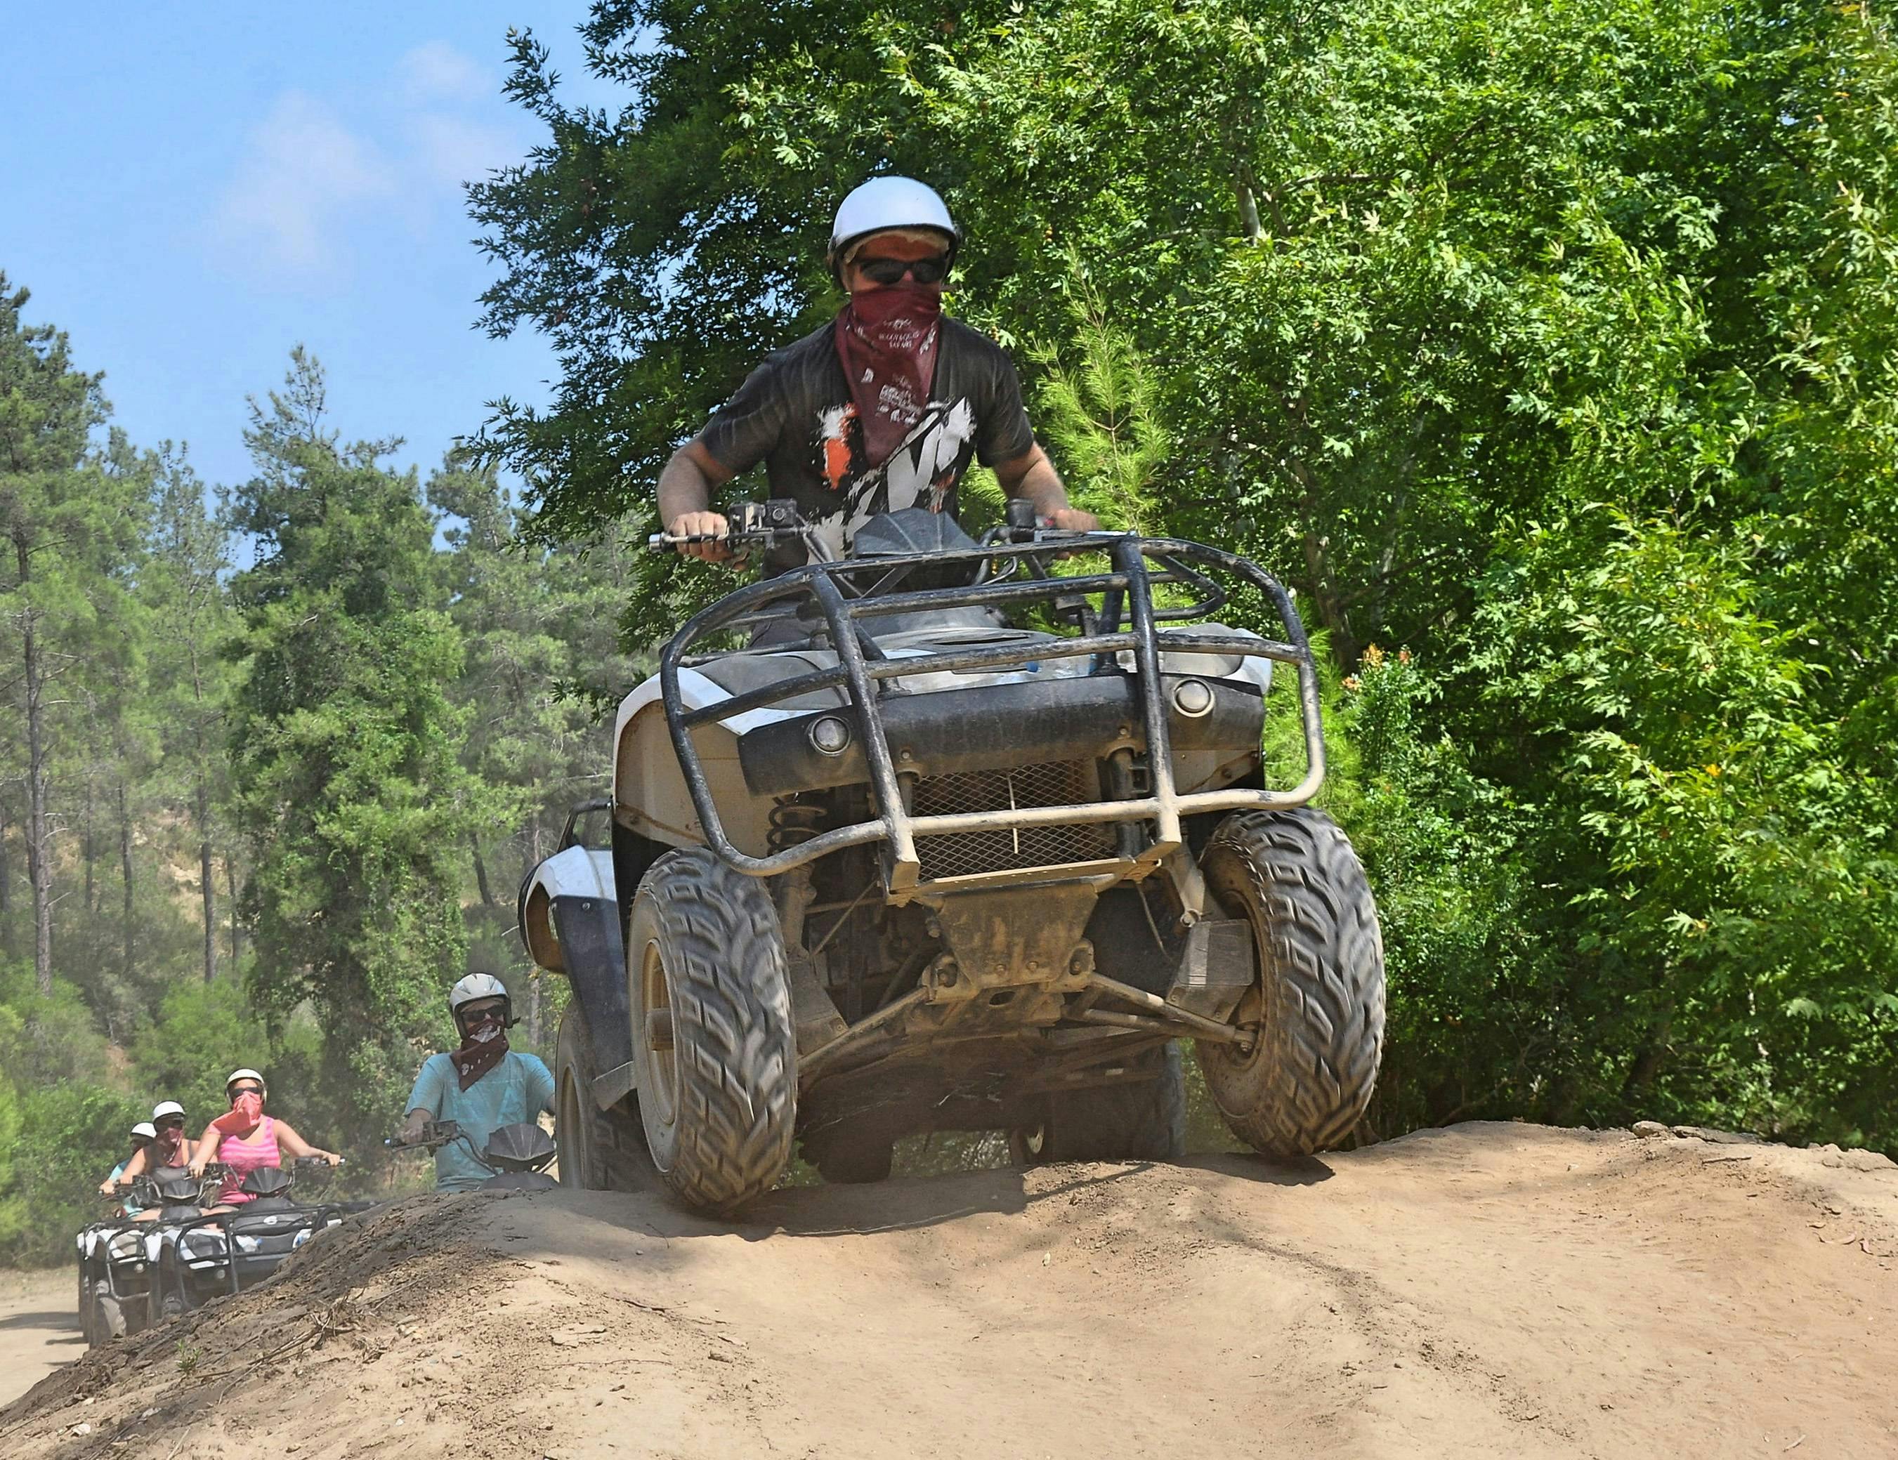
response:
[[[839,556],[877,513],[928,507],[955,515],[970,461],[1014,461],[1034,444],[1015,366],[993,340],[941,321],[928,406],[886,463],[864,452],[864,429],[837,359],[835,325],[765,357],[700,439],[731,473],[759,461],[772,497],[793,497]],[[772,556],[767,571],[803,562]]]

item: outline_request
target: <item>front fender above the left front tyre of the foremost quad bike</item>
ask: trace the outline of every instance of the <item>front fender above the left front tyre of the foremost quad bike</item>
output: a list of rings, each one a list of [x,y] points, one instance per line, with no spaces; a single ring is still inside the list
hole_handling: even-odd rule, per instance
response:
[[[731,699],[731,693],[704,674],[685,668],[679,670],[679,699],[687,710],[697,710]],[[738,767],[738,737],[748,729],[793,718],[795,710],[748,710],[693,731],[712,799],[725,820],[725,833],[750,856],[763,856],[769,849],[771,803],[761,803],[746,792],[744,773]],[[621,701],[613,723],[613,820],[666,847],[702,847],[706,841],[672,750],[657,674]],[[628,900],[634,890],[626,889]]]

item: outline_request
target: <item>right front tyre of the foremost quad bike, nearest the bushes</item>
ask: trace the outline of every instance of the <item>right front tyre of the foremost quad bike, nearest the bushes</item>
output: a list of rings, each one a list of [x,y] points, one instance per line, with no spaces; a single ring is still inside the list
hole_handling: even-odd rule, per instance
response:
[[[1384,1054],[1384,942],[1365,868],[1321,811],[1226,816],[1200,858],[1213,896],[1253,925],[1258,1040],[1198,1040],[1226,1126],[1268,1156],[1342,1143]]]

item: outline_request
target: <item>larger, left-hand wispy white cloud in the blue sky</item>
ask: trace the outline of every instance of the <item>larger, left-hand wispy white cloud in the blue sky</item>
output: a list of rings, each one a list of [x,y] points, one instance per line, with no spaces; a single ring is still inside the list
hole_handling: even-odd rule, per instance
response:
[[[323,103],[287,91],[251,137],[224,188],[213,232],[239,254],[296,273],[340,262],[336,222],[397,192],[397,173],[374,142],[357,137]]]

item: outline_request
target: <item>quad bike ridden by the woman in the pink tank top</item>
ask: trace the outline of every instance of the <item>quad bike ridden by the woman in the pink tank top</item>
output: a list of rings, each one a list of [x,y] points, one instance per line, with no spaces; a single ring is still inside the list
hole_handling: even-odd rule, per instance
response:
[[[161,1226],[150,1244],[146,1321],[159,1323],[214,1297],[256,1287],[317,1232],[372,1206],[309,1200],[321,1198],[332,1177],[334,1168],[323,1156],[298,1156],[288,1168],[260,1166],[245,1173],[251,1200],[243,1206]],[[290,1196],[296,1187],[304,1198]]]

